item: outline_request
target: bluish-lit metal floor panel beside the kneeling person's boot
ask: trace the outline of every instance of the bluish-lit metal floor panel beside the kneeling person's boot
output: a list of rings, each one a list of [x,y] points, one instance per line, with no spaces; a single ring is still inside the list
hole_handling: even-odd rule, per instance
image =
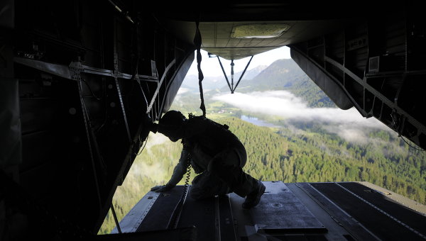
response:
[[[230,194],[241,240],[327,240],[327,228],[282,181],[263,181],[266,192],[258,206],[245,210],[244,198]]]

